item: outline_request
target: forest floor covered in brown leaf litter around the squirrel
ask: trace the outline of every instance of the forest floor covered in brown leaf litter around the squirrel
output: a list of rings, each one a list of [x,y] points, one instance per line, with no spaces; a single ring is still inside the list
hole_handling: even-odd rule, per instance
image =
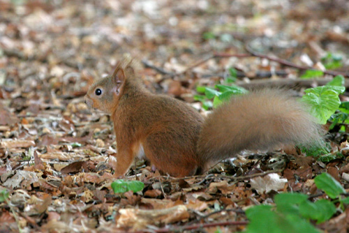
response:
[[[246,209],[276,193],[326,198],[313,182],[322,172],[347,190],[346,157],[292,149],[245,153],[184,179],[138,161],[126,179],[144,189],[115,194],[112,122],[83,96],[125,53],[142,61],[147,89],[202,114],[196,87],[223,83],[231,70],[246,89],[281,85],[302,96],[348,77],[348,12],[346,0],[0,0],[0,232],[236,232]],[[334,72],[299,79],[325,65]],[[327,138],[335,153],[347,134],[335,128]],[[347,232],[349,209],[313,224]]]

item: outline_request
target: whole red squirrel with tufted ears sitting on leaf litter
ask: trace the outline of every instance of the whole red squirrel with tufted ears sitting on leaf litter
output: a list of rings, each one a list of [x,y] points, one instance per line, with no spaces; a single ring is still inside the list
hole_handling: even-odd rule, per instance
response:
[[[320,126],[302,103],[280,89],[233,97],[204,118],[193,107],[150,93],[132,59],[93,84],[85,102],[111,115],[117,140],[116,176],[146,157],[170,176],[200,174],[242,150],[274,149],[321,139]]]

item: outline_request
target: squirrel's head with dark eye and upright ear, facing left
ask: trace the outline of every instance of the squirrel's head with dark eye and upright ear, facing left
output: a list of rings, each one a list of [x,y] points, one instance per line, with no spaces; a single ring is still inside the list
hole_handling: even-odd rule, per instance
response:
[[[124,69],[117,67],[111,76],[94,83],[84,96],[89,107],[96,108],[107,114],[112,114],[124,93],[126,75]]]

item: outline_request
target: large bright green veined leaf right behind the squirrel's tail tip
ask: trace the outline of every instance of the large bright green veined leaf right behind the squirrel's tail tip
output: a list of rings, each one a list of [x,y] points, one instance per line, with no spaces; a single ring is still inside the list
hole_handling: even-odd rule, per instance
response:
[[[337,86],[306,89],[302,102],[309,105],[311,114],[318,119],[319,123],[325,124],[341,104],[339,94],[345,90],[345,87]]]

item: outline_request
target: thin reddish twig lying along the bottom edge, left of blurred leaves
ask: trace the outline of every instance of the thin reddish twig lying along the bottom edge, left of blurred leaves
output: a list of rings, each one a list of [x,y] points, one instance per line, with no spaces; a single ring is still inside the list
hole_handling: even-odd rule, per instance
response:
[[[221,223],[202,223],[202,224],[194,224],[183,227],[172,227],[172,228],[160,228],[157,230],[140,230],[132,233],[143,233],[143,232],[156,232],[156,233],[167,233],[167,232],[183,232],[184,230],[196,230],[200,228],[207,227],[219,227],[219,226],[231,226],[231,225],[247,225],[247,221],[227,221]]]

